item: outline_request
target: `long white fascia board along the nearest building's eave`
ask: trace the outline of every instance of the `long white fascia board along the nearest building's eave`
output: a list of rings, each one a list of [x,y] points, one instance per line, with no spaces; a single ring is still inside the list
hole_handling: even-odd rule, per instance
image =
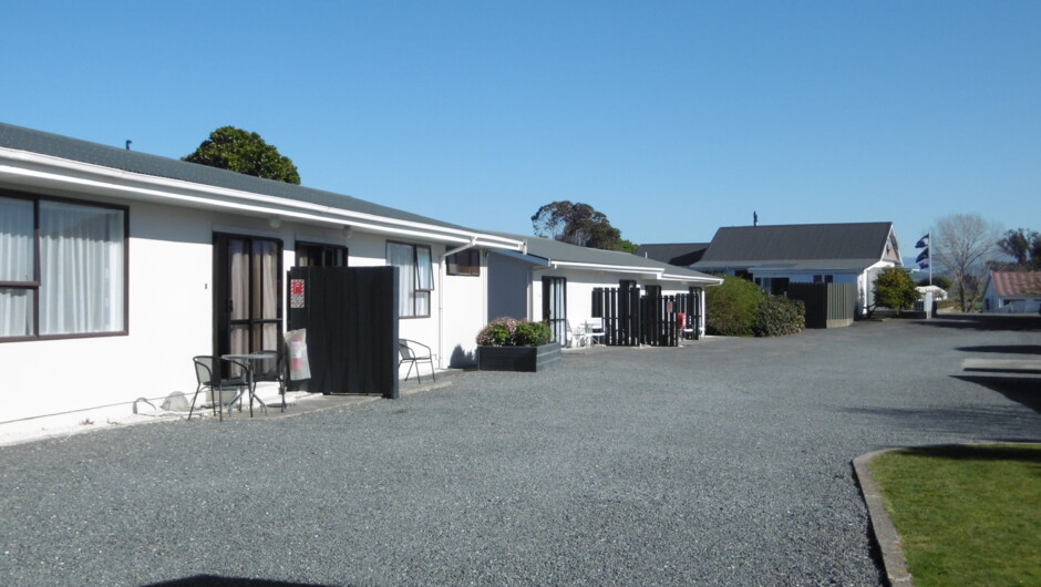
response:
[[[389,218],[264,194],[156,177],[39,153],[0,147],[0,177],[41,187],[87,188],[94,194],[176,203],[354,228],[443,243],[473,243],[486,248],[520,250],[523,241],[498,235]]]

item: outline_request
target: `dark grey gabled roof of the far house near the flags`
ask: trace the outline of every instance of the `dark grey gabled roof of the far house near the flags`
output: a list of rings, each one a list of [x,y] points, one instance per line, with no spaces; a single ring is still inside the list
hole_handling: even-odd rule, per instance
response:
[[[863,269],[883,258],[891,228],[893,223],[723,227],[694,268]]]

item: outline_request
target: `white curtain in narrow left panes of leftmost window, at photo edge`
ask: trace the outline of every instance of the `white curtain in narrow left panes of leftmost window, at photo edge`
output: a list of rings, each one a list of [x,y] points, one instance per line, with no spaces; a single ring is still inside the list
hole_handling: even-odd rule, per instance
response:
[[[32,202],[0,197],[0,281],[33,281],[32,217]],[[32,290],[0,288],[0,337],[32,333]]]

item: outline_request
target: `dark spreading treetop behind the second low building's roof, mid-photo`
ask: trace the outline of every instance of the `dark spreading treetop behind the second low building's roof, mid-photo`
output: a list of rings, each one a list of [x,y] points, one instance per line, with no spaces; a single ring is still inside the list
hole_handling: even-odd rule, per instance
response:
[[[563,243],[607,250],[636,253],[636,246],[621,238],[621,230],[611,226],[601,212],[580,202],[553,202],[532,216],[535,235]]]

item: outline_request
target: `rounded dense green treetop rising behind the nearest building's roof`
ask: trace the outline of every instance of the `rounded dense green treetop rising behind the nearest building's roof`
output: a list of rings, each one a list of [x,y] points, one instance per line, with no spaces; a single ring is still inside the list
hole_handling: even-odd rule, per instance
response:
[[[265,143],[257,133],[234,126],[221,126],[209,133],[209,138],[183,159],[287,184],[300,184],[300,174],[289,157],[281,155],[274,145]]]

